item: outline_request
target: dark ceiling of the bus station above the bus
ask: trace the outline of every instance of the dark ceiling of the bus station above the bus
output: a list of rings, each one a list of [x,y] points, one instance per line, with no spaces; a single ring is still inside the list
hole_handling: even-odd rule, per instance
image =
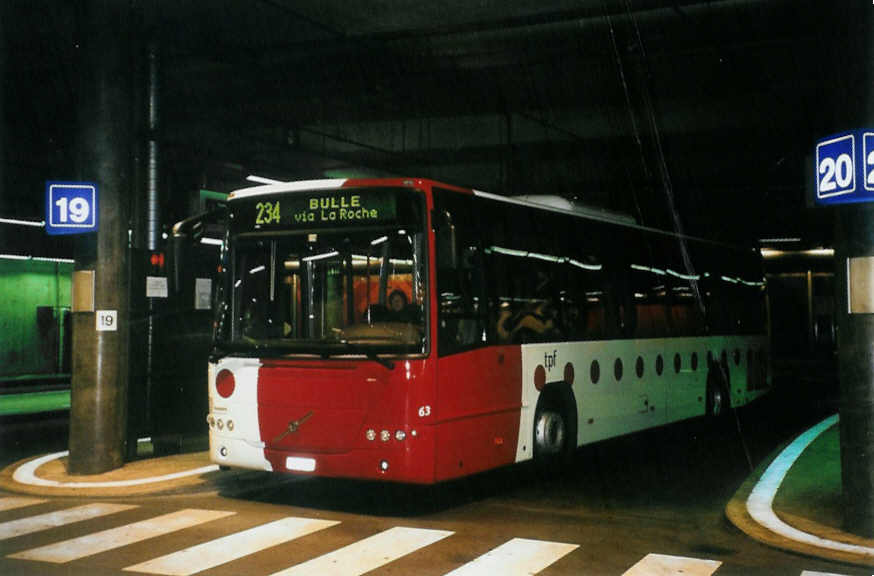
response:
[[[398,174],[720,240],[828,242],[830,217],[806,207],[809,155],[860,124],[872,82],[856,48],[872,9],[855,0],[131,6],[137,54],[149,38],[160,54],[168,225],[198,189],[251,173]],[[12,0],[0,14],[0,217],[40,218],[45,180],[84,177],[81,11]]]

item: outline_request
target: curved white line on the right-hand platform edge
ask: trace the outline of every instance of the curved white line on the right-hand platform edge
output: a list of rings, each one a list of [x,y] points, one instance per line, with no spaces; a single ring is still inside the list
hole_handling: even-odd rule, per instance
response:
[[[771,462],[771,465],[768,466],[768,469],[765,470],[765,473],[762,474],[759,482],[753,488],[752,492],[750,492],[750,495],[747,498],[747,512],[749,512],[753,520],[784,538],[817,546],[819,548],[826,548],[839,552],[849,552],[851,554],[861,554],[862,556],[874,559],[874,548],[856,546],[844,542],[835,542],[833,540],[826,540],[825,538],[814,536],[813,534],[808,534],[807,532],[802,532],[780,520],[772,508],[774,496],[777,494],[780,484],[782,484],[783,479],[786,477],[786,474],[789,472],[789,469],[798,457],[801,456],[804,450],[810,446],[810,444],[816,440],[820,434],[834,426],[837,422],[837,414],[830,416],[796,438],[795,441],[787,446],[780,455]]]

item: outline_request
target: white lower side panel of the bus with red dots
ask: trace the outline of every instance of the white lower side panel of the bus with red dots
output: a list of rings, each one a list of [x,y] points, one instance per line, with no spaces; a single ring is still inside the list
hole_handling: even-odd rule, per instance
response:
[[[750,390],[747,386],[749,351],[754,352],[753,357],[755,352],[764,351],[767,358],[767,338],[707,336],[525,344],[516,461],[533,455],[534,417],[541,393],[534,385],[534,374],[540,366],[547,386],[564,382],[567,365],[572,367],[579,446],[704,415],[708,353],[716,362],[725,354],[731,405],[751,402],[767,389]]]

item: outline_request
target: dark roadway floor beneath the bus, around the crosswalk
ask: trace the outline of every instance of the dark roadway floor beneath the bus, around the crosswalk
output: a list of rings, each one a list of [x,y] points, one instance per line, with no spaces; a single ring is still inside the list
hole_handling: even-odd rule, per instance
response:
[[[193,567],[181,573],[209,566],[203,573],[266,575],[324,556],[317,561],[344,566],[348,570],[338,572],[344,574],[428,576],[461,567],[467,572],[460,574],[493,576],[513,573],[513,568],[544,575],[870,574],[870,569],[768,548],[748,539],[724,517],[725,503],[750,473],[750,465],[815,422],[827,408],[815,390],[798,394],[778,389],[740,411],[736,419],[715,425],[704,420],[684,422],[584,447],[562,474],[546,479],[530,466],[429,488],[330,479],[277,481],[265,476],[242,486],[229,485],[219,493],[107,498],[135,507],[2,539],[0,573],[98,576],[129,567],[154,572],[159,568],[142,563],[271,522],[299,518],[320,521],[321,528],[216,566],[207,558],[218,552],[195,553]],[[20,428],[17,433],[11,429],[15,427]],[[28,451],[48,452],[53,449],[50,445],[62,443],[62,422],[18,422],[4,428],[5,461]],[[34,441],[35,437],[42,440]],[[11,495],[0,494],[4,496]],[[95,501],[51,498],[0,511],[0,528],[4,522]],[[62,564],[9,557],[185,509],[232,514]],[[392,532],[378,536],[387,530]],[[385,550],[379,547],[380,538],[387,539]],[[394,558],[406,550],[405,545],[410,546],[409,553]],[[216,547],[222,548],[221,543]],[[349,558],[337,556],[339,550],[348,552]],[[488,555],[490,551],[494,552]],[[505,565],[500,564],[504,553],[510,554]],[[526,556],[529,553],[531,558]],[[369,563],[374,558],[389,561],[375,567]],[[297,570],[325,573],[325,566],[305,564]]]

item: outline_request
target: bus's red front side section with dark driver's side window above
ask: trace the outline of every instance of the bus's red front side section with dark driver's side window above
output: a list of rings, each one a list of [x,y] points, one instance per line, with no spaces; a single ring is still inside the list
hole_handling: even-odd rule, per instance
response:
[[[512,463],[518,438],[521,351],[489,345],[484,252],[469,200],[435,195],[438,480]]]

